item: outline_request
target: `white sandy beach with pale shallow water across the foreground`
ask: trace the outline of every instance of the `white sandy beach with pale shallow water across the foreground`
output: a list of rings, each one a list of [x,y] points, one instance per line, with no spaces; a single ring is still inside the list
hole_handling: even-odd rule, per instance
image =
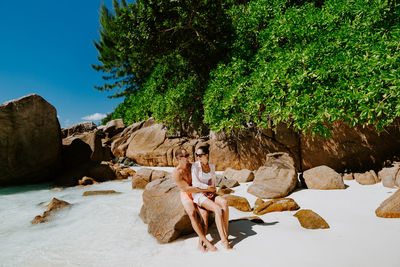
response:
[[[208,238],[220,249],[208,253],[196,250],[195,235],[158,244],[138,217],[142,191],[132,190],[130,179],[61,192],[35,186],[22,187],[22,192],[2,189],[0,266],[400,266],[400,219],[375,215],[396,189],[345,183],[346,190],[300,190],[289,196],[322,216],[330,229],[304,229],[295,212],[268,213],[260,216],[263,225],[230,223],[233,251],[220,247],[213,225]],[[234,194],[253,206],[256,197],[246,192],[249,184],[235,187]],[[86,190],[105,189],[122,194],[82,196]],[[44,211],[44,204],[38,204],[52,197],[73,206],[51,222],[30,225]],[[230,208],[231,219],[252,215]]]

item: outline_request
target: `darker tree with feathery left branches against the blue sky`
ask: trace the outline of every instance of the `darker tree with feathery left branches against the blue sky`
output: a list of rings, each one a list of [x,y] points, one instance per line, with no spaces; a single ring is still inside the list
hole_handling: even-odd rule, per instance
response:
[[[203,128],[201,96],[232,39],[225,14],[230,2],[143,0],[117,9],[114,1],[118,12],[111,22],[105,20],[111,27],[102,23],[96,46],[102,65],[95,66],[114,82],[100,90],[126,96],[112,118],[129,124],[153,116],[183,133]],[[109,45],[103,41],[108,35]]]

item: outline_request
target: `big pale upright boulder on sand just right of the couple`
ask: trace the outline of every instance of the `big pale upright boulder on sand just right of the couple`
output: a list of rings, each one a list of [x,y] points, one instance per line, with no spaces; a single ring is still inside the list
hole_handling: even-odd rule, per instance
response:
[[[289,154],[268,154],[266,164],[268,165],[258,169],[247,192],[259,198],[280,198],[295,189],[297,172]]]

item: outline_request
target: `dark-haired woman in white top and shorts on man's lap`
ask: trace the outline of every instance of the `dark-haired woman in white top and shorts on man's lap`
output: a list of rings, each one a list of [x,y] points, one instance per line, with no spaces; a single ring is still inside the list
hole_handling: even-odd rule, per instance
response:
[[[197,149],[198,161],[192,164],[192,186],[207,189],[215,188],[215,165],[208,161],[209,150],[207,146]],[[193,202],[202,208],[215,213],[215,222],[221,243],[226,249],[230,249],[228,242],[229,207],[228,202],[215,193],[192,193]]]

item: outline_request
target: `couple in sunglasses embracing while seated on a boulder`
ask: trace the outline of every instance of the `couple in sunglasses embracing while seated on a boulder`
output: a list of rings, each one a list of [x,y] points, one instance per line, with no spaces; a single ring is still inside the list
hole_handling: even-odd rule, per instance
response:
[[[196,151],[196,157],[198,161],[191,164],[186,150],[179,148],[175,152],[178,166],[172,172],[172,177],[181,189],[183,207],[189,215],[194,231],[199,236],[200,250],[217,250],[206,238],[208,211],[215,213],[215,222],[222,246],[230,249],[228,242],[228,203],[215,193],[215,165],[208,161],[208,147],[199,147]],[[200,219],[197,214],[200,215]],[[200,220],[203,221],[204,229]]]

